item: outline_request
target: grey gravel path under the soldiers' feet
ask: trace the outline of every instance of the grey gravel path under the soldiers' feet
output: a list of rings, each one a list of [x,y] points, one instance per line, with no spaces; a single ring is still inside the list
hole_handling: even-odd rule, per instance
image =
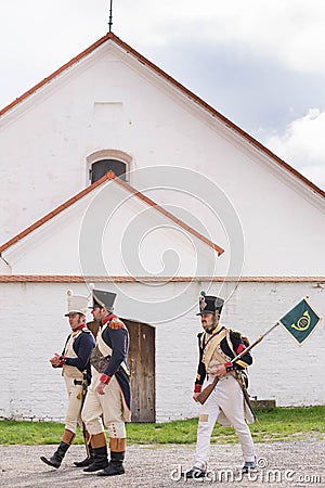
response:
[[[0,446],[0,486],[5,488],[181,488],[204,483],[206,487],[325,487],[325,440],[257,444],[259,468],[242,478],[240,449],[212,446],[209,478],[180,479],[191,467],[194,446],[129,446],[126,474],[99,477],[74,467],[84,457],[82,446],[72,446],[58,470],[43,464],[40,455],[52,455],[54,446]],[[226,477],[227,476],[227,477]]]

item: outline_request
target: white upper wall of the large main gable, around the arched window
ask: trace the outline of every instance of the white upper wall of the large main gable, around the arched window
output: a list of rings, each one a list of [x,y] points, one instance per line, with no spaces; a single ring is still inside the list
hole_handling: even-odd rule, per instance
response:
[[[211,178],[238,215],[244,274],[325,274],[324,198],[109,43],[0,124],[2,243],[88,185],[87,156],[112,149],[130,155],[131,170],[182,166]],[[139,185],[136,175],[130,179]],[[207,203],[213,197],[206,195]],[[197,200],[172,193],[165,203],[199,215],[212,240],[232,251]],[[219,274],[225,273],[229,253]]]

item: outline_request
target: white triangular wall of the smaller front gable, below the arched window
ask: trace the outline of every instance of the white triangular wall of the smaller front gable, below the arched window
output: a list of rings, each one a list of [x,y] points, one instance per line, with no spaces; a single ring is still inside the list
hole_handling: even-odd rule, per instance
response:
[[[218,254],[115,181],[2,253],[12,274],[213,274]]]

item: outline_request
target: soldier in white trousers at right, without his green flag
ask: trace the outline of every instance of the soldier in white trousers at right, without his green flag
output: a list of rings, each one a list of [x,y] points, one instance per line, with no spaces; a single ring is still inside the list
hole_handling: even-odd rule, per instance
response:
[[[211,384],[216,376],[219,382],[206,402],[199,407],[196,459],[193,467],[185,473],[187,478],[207,475],[210,439],[216,422],[235,428],[245,461],[243,472],[247,473],[256,467],[252,438],[245,421],[253,421],[244,377],[244,371],[251,364],[252,358],[247,352],[240,360],[232,362],[246,345],[240,333],[226,329],[219,322],[222,307],[222,298],[206,296],[203,292],[197,314],[200,316],[204,332],[198,334],[199,361],[193,399],[197,401],[203,385]]]

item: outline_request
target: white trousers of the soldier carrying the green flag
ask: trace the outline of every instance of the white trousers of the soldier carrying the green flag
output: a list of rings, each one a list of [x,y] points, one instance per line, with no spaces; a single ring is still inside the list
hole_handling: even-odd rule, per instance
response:
[[[204,387],[211,382],[210,377]],[[224,419],[224,415],[237,433],[244,461],[255,461],[252,438],[245,422],[243,391],[238,382],[227,374],[218,383],[207,401],[199,407],[195,466],[207,468],[212,431],[217,420],[221,416]]]

